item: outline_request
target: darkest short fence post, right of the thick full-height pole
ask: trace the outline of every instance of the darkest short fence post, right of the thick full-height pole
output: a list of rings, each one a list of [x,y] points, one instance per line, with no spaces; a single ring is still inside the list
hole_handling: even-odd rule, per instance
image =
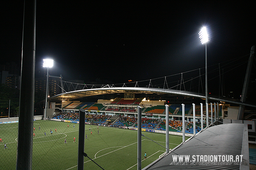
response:
[[[77,170],[84,170],[84,131],[85,131],[85,110],[79,109],[79,139]]]

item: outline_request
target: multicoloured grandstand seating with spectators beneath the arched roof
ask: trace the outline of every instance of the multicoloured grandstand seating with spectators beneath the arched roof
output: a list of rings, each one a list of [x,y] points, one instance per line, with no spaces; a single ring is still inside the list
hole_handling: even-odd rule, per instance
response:
[[[147,102],[147,101],[146,101]],[[154,130],[163,130],[165,131],[166,128],[166,121],[165,121],[165,112],[166,106],[163,102],[160,105],[159,101],[148,102],[142,101],[142,98],[138,99],[124,99],[124,98],[115,98],[112,102],[104,103],[93,103],[93,102],[70,102],[69,105],[64,107],[64,110],[73,110],[74,112],[78,113],[80,108],[86,110],[86,122],[92,124],[104,124],[113,127],[137,127],[137,106],[140,104],[142,109],[142,128],[147,129],[154,129]],[[205,114],[206,107],[204,106],[203,111]],[[210,105],[209,105],[210,111]],[[185,116],[186,120],[192,122],[192,105],[185,105]],[[213,110],[214,112],[214,110]],[[195,113],[196,116],[201,116],[201,105],[195,105]],[[221,109],[219,112],[221,113]],[[75,115],[73,112],[70,114]],[[106,115],[106,116],[105,116]],[[182,105],[169,105],[169,131],[180,133],[182,130]],[[67,116],[67,113],[61,113],[53,119],[64,119],[64,120],[77,120],[79,121],[79,117],[76,116]],[[201,130],[201,119],[196,118],[196,133]],[[206,124],[204,124],[206,127]],[[185,124],[185,132],[186,133],[193,133],[193,125],[186,123]]]

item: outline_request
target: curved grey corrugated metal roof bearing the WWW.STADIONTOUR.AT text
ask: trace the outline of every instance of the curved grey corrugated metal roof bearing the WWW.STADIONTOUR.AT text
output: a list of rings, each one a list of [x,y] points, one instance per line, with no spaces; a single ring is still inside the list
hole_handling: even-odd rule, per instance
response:
[[[247,133],[247,130],[245,133]],[[177,158],[175,162],[173,156],[177,156],[177,154],[169,153],[148,167],[145,167],[143,170],[240,170],[240,163],[223,162],[222,156],[225,155],[229,156],[227,158],[230,158],[230,155],[232,155],[233,161],[236,161],[237,155],[240,156],[242,155],[241,153],[244,154],[244,152],[242,152],[243,140],[246,140],[246,138],[244,138],[244,124],[224,124],[209,127],[201,133],[198,133],[194,138],[188,139],[184,144],[175,148],[174,152],[177,153],[178,156],[189,155],[189,161],[186,162],[183,158],[183,161],[179,162],[179,158]],[[248,155],[249,153],[245,154]],[[193,155],[195,159],[193,159]],[[198,159],[196,155],[221,156],[217,156],[218,161],[202,162],[203,160],[200,161],[200,156]],[[249,158],[249,156],[245,157]],[[209,159],[209,157],[207,158]],[[244,169],[244,167],[241,169]]]

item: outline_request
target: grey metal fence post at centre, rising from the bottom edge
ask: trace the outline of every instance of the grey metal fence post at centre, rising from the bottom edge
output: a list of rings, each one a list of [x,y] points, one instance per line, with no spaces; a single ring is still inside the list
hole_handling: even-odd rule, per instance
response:
[[[141,170],[141,107],[138,110],[138,137],[137,137],[137,170]]]

